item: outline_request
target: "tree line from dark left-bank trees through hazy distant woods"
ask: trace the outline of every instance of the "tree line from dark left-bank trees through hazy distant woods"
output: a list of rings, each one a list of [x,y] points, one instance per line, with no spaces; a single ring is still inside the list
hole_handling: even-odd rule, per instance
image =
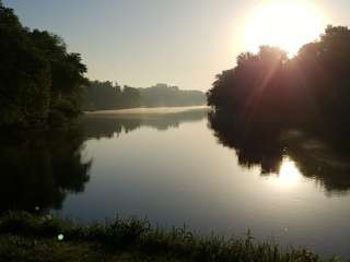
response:
[[[120,87],[89,81],[80,53],[68,52],[52,33],[22,25],[0,0],[0,127],[61,127],[83,109],[191,106],[206,103],[197,91],[155,85]]]

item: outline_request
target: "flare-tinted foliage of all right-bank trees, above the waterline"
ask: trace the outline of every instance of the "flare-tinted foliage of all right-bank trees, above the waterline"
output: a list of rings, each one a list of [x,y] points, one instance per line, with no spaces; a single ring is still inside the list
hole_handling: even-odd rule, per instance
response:
[[[350,109],[349,43],[348,27],[328,26],[319,40],[303,46],[292,59],[266,46],[258,53],[242,53],[235,68],[217,76],[208,104],[245,122],[349,129],[349,118],[338,117]]]

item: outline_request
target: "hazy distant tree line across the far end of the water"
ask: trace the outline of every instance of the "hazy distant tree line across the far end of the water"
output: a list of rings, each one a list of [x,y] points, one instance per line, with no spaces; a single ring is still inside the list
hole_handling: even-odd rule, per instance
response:
[[[177,86],[156,84],[137,88],[110,81],[91,81],[84,92],[85,110],[106,110],[135,107],[199,106],[206,104],[200,91],[183,91]]]

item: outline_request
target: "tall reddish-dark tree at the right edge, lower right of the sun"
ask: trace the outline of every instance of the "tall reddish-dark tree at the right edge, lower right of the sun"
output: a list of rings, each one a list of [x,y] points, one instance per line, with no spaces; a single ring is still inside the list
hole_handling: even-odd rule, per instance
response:
[[[334,128],[350,127],[347,117],[350,109],[349,28],[329,25],[320,39],[302,47],[291,63],[307,90],[317,117],[336,124]]]

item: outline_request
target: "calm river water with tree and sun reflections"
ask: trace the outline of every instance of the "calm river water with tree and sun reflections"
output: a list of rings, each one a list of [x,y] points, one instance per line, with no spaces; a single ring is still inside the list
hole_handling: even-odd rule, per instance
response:
[[[71,132],[2,141],[0,209],[85,222],[147,216],[225,236],[250,229],[258,240],[350,258],[345,154],[300,130],[236,139],[207,115],[84,117]]]

